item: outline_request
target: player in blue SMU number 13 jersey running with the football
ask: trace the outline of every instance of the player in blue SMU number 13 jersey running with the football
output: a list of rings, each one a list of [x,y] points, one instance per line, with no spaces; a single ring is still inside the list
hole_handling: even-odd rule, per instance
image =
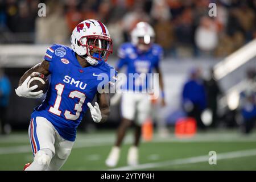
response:
[[[84,20],[72,32],[71,48],[53,44],[42,63],[20,78],[16,94],[40,98],[42,90],[32,92],[38,85],[27,86],[31,74],[39,72],[51,77],[45,100],[31,114],[28,134],[34,161],[24,169],[59,170],[68,159],[77,126],[88,108],[94,122],[106,121],[110,98],[102,90],[109,89],[116,75],[114,68],[105,62],[110,53],[112,39],[108,28],[98,20]],[[99,78],[104,75],[107,79]],[[97,102],[93,106],[95,95]]]

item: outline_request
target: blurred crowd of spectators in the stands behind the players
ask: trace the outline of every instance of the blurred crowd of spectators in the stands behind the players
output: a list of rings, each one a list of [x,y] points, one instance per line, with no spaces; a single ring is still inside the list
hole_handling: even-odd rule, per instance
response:
[[[46,3],[46,17],[38,16],[40,2]],[[208,15],[212,2],[216,17]],[[104,22],[115,49],[129,40],[137,22],[150,22],[156,43],[177,58],[224,57],[256,38],[254,0],[1,0],[0,43],[69,44],[84,19]]]

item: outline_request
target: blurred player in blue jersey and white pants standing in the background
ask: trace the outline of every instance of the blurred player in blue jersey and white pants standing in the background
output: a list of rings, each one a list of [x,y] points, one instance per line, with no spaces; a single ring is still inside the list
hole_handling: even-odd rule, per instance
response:
[[[135,123],[134,143],[129,149],[127,163],[129,165],[138,163],[141,125],[150,116],[151,110],[151,100],[147,91],[150,90],[153,80],[148,79],[147,73],[152,73],[155,69],[159,74],[160,89],[164,90],[162,73],[159,68],[163,50],[158,44],[154,44],[154,38],[155,32],[150,24],[139,22],[131,31],[131,43],[122,44],[118,50],[119,61],[116,69],[119,70],[126,65],[127,80],[122,87],[122,121],[117,131],[117,141],[106,159],[107,166],[114,167],[118,163],[122,140],[132,122]],[[135,76],[129,77],[129,75]],[[166,105],[163,91],[161,103],[162,106]]]

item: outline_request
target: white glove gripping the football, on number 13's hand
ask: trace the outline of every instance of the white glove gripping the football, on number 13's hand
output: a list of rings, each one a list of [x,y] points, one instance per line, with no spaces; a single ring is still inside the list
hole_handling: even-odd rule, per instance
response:
[[[31,76],[28,76],[26,80],[15,89],[17,96],[25,97],[25,98],[40,98],[43,96],[43,90],[39,90],[38,92],[31,92],[32,90],[38,88],[38,85],[31,86],[28,88],[27,82],[30,80]]]

